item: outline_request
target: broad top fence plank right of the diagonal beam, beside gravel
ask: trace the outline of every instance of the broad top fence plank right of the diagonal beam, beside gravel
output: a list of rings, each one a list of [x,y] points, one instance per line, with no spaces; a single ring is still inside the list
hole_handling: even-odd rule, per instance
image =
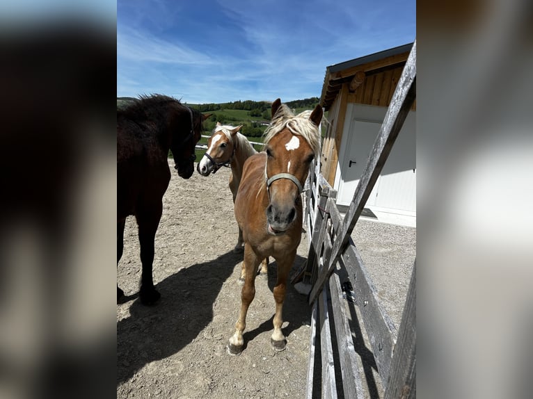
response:
[[[340,260],[348,272],[353,292],[356,295],[356,302],[363,318],[363,325],[372,345],[379,376],[383,386],[386,386],[390,373],[392,351],[396,342],[396,327],[381,306],[376,288],[374,288],[372,279],[351,238]]]

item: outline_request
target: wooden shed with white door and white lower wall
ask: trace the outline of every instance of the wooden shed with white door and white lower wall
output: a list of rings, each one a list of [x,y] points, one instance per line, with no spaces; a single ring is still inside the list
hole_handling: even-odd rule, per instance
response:
[[[348,206],[413,43],[326,68],[320,104],[330,124],[322,145],[321,174]],[[367,217],[416,224],[415,110],[411,108],[385,168],[365,205]]]

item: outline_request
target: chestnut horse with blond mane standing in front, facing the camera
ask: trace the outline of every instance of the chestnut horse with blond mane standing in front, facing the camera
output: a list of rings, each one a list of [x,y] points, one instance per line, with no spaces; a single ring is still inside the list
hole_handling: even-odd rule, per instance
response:
[[[273,289],[276,314],[271,343],[285,349],[281,331],[283,301],[289,270],[301,241],[301,192],[310,163],[319,155],[319,123],[322,108],[294,115],[280,99],[272,104],[272,122],[265,131],[265,151],[250,156],[235,199],[235,218],[244,238],[244,286],[241,309],[230,338],[228,352],[241,352],[246,313],[255,297],[255,275],[262,259],[273,257],[278,264],[278,279]]]

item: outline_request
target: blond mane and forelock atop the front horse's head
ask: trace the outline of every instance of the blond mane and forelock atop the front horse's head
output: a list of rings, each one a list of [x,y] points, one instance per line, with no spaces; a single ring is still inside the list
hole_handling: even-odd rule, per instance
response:
[[[320,133],[317,125],[309,119],[311,113],[312,111],[303,111],[294,115],[286,104],[281,104],[269,127],[264,131],[264,144],[266,145],[280,131],[289,129],[291,133],[302,136],[315,152],[315,157],[319,156]]]

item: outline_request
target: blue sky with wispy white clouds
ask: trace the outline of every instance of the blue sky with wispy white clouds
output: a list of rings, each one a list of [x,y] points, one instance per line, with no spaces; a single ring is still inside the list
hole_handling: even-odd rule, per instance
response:
[[[415,40],[415,0],[118,0],[117,96],[320,97],[328,65]]]

